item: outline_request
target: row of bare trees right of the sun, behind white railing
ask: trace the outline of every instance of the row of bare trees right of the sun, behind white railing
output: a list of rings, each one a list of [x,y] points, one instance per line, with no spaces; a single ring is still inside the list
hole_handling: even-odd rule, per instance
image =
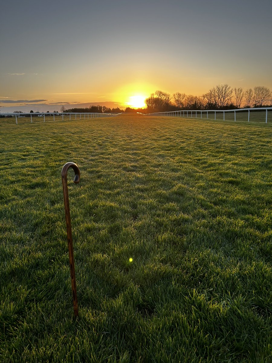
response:
[[[272,93],[268,87],[256,86],[252,90],[242,87],[217,85],[202,96],[186,95],[185,93],[170,93],[157,90],[145,99],[146,112],[163,112],[174,110],[231,110],[264,107],[272,105]]]

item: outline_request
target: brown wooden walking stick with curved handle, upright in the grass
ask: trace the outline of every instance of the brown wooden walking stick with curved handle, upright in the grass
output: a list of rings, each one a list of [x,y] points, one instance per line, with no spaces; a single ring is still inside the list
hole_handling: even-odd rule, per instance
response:
[[[62,171],[61,171],[64,207],[65,207],[65,219],[66,219],[66,228],[67,228],[70,275],[71,275],[71,284],[72,284],[72,292],[73,292],[73,305],[74,305],[74,314],[77,317],[78,316],[78,298],[77,298],[77,288],[75,286],[75,261],[74,261],[71,217],[70,217],[70,207],[69,207],[69,197],[68,197],[68,187],[67,187],[67,171],[69,168],[73,168],[73,170],[75,172],[74,183],[76,183],[76,184],[79,183],[79,180],[80,180],[80,171],[79,171],[77,164],[71,163],[71,162],[66,163],[63,166]]]

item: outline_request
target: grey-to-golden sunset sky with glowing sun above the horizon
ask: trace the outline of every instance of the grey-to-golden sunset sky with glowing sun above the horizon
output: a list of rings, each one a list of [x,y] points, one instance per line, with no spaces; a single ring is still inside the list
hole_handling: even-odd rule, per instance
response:
[[[0,12],[1,113],[272,90],[271,0],[9,0]]]

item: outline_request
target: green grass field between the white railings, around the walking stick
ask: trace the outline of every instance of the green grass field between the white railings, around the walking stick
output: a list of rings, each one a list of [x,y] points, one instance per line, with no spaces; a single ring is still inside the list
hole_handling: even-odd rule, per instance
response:
[[[0,361],[271,362],[271,135],[141,115],[0,126]]]

